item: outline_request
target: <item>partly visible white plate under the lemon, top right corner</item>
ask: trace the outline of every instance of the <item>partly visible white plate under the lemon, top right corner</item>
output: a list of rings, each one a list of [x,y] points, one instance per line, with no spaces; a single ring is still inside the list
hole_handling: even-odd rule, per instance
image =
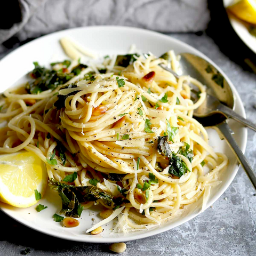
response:
[[[234,0],[223,0],[223,5],[226,8],[233,2]],[[236,34],[254,53],[256,53],[256,37],[250,34],[249,30],[247,29],[247,23],[237,19],[233,14],[229,12],[227,12],[227,14],[230,24],[235,30]]]

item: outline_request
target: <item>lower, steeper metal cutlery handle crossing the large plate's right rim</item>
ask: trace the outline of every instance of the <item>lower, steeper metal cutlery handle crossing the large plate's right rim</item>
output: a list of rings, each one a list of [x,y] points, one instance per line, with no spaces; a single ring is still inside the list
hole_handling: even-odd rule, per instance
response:
[[[241,149],[238,147],[235,139],[233,138],[233,131],[230,129],[228,126],[227,122],[222,122],[219,125],[215,126],[218,128],[218,130],[222,133],[223,137],[226,139],[229,147],[235,154],[238,162],[243,166],[243,169],[247,173],[249,179],[251,180],[254,188],[256,189],[256,176],[254,171],[252,170],[252,167],[248,163],[247,159],[245,158],[243,152]]]

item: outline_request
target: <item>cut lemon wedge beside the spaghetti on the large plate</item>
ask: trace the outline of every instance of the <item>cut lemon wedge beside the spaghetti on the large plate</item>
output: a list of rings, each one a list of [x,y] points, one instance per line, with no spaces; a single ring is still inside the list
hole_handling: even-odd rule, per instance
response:
[[[43,196],[47,180],[45,164],[34,153],[0,155],[0,201],[16,207],[34,205],[35,189]]]

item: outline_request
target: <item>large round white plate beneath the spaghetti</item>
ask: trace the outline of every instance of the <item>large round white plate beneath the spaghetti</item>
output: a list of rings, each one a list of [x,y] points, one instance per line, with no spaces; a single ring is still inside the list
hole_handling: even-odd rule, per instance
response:
[[[7,55],[0,61],[0,70],[5,74],[1,77],[0,90],[12,86],[17,80],[33,69],[33,61],[38,61],[41,65],[46,65],[51,62],[52,58],[58,57],[63,60],[66,55],[63,53],[59,44],[59,39],[63,36],[69,36],[77,42],[83,44],[88,49],[99,52],[102,55],[114,53],[127,53],[131,44],[136,44],[138,49],[142,52],[153,52],[156,55],[173,49],[175,53],[190,52],[197,54],[212,65],[214,63],[204,54],[197,51],[193,47],[178,41],[170,36],[165,36],[152,31],[129,28],[129,27],[86,27],[63,30],[58,33],[50,34],[36,39],[26,45],[19,47],[11,54]],[[217,67],[216,65],[214,65]],[[225,76],[225,75],[224,75]],[[225,79],[230,84],[235,95],[235,111],[245,117],[243,104],[234,85],[230,82],[227,76]],[[234,130],[234,138],[236,139],[240,148],[244,151],[247,140],[247,130],[239,124],[230,122],[231,128]],[[215,151],[225,153],[229,158],[228,169],[222,175],[222,183],[212,189],[212,194],[207,203],[207,207],[212,205],[228,188],[231,181],[234,179],[238,165],[235,156],[231,153],[225,141],[221,141],[217,132],[209,130],[210,145]],[[139,239],[162,233],[171,228],[177,227],[182,223],[193,219],[201,212],[201,201],[187,207],[187,210],[181,218],[175,219],[172,222],[148,231],[137,231],[136,233],[117,234],[111,233],[113,223],[105,226],[105,231],[97,236],[86,234],[85,230],[92,226],[93,221],[99,221],[97,213],[99,210],[84,210],[82,213],[81,223],[76,228],[63,228],[59,222],[54,222],[52,215],[59,213],[61,209],[61,200],[57,193],[47,190],[45,197],[40,201],[41,204],[47,205],[48,208],[42,212],[36,212],[35,206],[27,209],[19,209],[4,203],[0,203],[0,208],[7,215],[13,219],[23,223],[24,225],[49,234],[55,237],[65,238],[80,242],[91,243],[111,243],[111,242],[125,242],[133,239]]]

